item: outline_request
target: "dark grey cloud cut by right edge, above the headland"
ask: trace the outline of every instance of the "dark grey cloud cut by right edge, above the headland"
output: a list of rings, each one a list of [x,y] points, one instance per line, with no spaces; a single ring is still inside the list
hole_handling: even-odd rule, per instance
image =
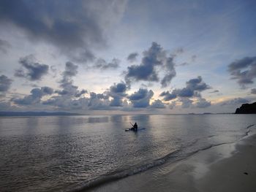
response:
[[[256,77],[256,57],[246,57],[228,65],[233,80],[237,80],[241,88],[252,84]]]

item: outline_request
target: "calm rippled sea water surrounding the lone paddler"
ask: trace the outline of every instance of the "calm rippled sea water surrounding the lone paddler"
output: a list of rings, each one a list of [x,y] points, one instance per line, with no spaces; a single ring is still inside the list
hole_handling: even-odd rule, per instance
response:
[[[124,131],[138,123],[139,131]],[[255,131],[256,115],[0,118],[0,191],[76,191]]]

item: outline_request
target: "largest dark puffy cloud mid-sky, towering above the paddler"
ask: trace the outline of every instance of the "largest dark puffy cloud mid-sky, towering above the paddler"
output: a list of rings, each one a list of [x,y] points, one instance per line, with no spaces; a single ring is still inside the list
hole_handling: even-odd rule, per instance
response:
[[[159,72],[157,68],[164,69],[164,77],[161,80],[162,87],[166,87],[173,77],[176,76],[173,57],[166,56],[167,51],[163,50],[157,42],[152,42],[151,47],[143,52],[143,58],[140,65],[128,66],[125,75],[127,83],[132,80],[144,80],[149,82],[159,81]]]

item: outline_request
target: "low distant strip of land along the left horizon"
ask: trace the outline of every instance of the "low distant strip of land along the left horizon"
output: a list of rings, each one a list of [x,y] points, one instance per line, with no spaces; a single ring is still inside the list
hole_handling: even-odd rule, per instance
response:
[[[14,116],[64,116],[64,115],[80,115],[71,112],[0,112],[0,117]]]

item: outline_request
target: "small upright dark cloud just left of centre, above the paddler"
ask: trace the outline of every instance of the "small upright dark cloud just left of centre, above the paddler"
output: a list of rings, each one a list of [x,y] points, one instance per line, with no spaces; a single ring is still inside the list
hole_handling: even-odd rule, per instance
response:
[[[127,96],[127,85],[124,82],[115,83],[110,87],[108,96],[111,96],[113,99],[110,102],[110,107],[122,107],[124,96]]]

